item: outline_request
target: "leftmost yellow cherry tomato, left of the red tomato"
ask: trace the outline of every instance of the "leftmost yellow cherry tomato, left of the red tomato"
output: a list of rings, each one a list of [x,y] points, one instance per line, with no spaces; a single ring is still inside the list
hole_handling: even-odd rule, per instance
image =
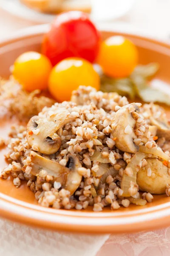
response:
[[[46,56],[38,52],[25,52],[14,62],[12,73],[25,90],[45,90],[51,69],[51,62]]]

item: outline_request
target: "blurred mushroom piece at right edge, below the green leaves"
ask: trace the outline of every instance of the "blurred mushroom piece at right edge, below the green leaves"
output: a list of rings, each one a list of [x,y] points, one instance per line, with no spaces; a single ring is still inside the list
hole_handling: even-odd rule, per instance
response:
[[[157,127],[158,137],[165,137],[165,140],[170,140],[170,125],[168,122],[156,120],[153,116],[151,116],[150,124]]]

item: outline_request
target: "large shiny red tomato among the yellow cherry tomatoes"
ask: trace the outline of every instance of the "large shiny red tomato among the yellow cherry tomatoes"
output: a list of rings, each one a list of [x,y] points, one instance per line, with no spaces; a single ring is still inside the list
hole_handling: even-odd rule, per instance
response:
[[[57,16],[42,42],[42,53],[53,65],[64,58],[81,57],[94,62],[99,51],[100,33],[83,12]]]

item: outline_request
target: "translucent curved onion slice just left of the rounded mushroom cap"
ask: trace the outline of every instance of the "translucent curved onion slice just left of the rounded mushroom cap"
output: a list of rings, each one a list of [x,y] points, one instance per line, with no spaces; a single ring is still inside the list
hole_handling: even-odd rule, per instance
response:
[[[130,183],[133,182],[136,184],[136,175],[139,169],[141,168],[141,161],[147,156],[147,154],[144,154],[142,152],[137,152],[134,154],[134,156],[131,158],[130,163],[126,166],[126,168],[131,168],[133,171],[132,176],[127,176],[125,173],[123,174],[122,183],[121,183],[121,189],[123,190],[123,195],[125,197],[129,197],[129,189],[130,189]]]

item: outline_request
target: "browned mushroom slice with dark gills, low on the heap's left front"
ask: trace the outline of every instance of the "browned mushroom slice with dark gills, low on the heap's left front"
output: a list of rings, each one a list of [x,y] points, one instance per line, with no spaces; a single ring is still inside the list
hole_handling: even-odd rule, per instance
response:
[[[60,182],[63,188],[70,191],[71,195],[74,194],[82,181],[82,175],[78,173],[78,168],[82,165],[77,156],[68,155],[67,167],[42,157],[34,151],[31,151],[30,157],[31,162],[34,163],[31,170],[32,175],[38,175],[43,169],[48,175],[53,176],[55,181]]]

